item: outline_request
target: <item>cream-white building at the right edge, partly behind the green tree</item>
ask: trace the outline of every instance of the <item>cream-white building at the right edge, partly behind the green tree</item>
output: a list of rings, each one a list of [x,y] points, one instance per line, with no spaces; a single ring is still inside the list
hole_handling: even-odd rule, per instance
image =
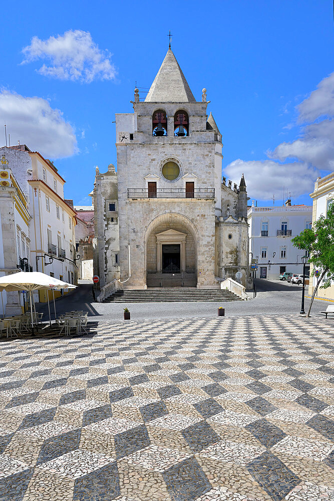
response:
[[[334,172],[328,176],[318,178],[314,184],[314,191],[310,194],[313,198],[313,213],[312,221],[314,222],[322,214],[326,217],[329,203],[334,202]],[[308,293],[313,294],[316,285],[316,277],[313,277],[309,284]],[[334,300],[334,283],[327,289],[320,289],[316,291],[316,298],[326,298]]]

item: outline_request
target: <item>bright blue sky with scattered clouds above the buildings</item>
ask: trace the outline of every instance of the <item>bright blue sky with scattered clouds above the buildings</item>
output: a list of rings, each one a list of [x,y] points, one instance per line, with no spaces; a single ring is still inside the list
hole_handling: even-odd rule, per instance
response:
[[[285,186],[310,203],[334,170],[330,0],[19,0],[2,16],[0,124],[54,160],[76,204],[90,203],[96,165],[116,165],[115,113],[133,111],[135,81],[150,87],[169,30],[196,99],[207,89],[223,174],[244,172],[251,199],[281,204]]]

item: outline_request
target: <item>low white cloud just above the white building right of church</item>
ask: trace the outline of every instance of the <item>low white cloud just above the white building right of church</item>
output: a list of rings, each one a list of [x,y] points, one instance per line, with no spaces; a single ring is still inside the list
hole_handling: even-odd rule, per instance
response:
[[[273,160],[234,160],[225,168],[229,179],[241,178],[244,174],[250,198],[269,200],[273,194],[279,198],[283,185],[289,186],[294,196],[310,193],[318,171],[301,162],[279,164]]]

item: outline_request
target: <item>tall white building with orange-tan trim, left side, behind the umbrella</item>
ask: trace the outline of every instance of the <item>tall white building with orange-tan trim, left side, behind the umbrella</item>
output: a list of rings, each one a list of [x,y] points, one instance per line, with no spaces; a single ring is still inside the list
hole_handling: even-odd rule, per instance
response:
[[[0,148],[0,157],[2,155],[8,160],[29,204],[29,264],[34,271],[76,284],[76,213],[64,200],[66,181],[50,160],[25,144],[4,146]],[[55,295],[62,293],[55,292]],[[45,302],[46,292],[40,291],[35,300]]]

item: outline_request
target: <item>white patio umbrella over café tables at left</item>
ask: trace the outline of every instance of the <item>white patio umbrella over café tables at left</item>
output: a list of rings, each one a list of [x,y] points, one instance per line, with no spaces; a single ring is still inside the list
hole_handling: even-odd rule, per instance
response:
[[[32,316],[32,329],[34,335],[32,292],[40,289],[75,289],[77,286],[62,282],[61,280],[50,277],[41,272],[19,272],[12,275],[0,277],[0,290],[6,291],[29,291],[30,292],[30,310]],[[49,301],[49,296],[48,296]],[[49,309],[50,311],[50,309]],[[56,315],[56,308],[55,308]]]

